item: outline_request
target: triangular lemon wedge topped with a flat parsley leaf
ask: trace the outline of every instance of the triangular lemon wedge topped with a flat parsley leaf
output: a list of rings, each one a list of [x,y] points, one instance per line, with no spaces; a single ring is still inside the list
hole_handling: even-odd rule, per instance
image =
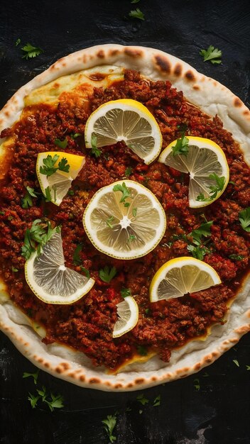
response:
[[[40,172],[40,169],[45,167],[44,160],[46,162],[48,156],[51,156],[52,161],[56,159],[55,156],[58,156],[58,159],[53,165],[57,170],[51,175],[42,174]],[[68,170],[68,172],[59,170],[58,165],[60,166],[60,161],[62,159],[67,160],[65,170]],[[60,151],[39,152],[36,161],[36,174],[39,180],[40,189],[44,196],[53,202],[53,204],[59,206],[63,197],[70,189],[72,180],[77,177],[84,164],[85,157],[83,156]],[[69,168],[67,168],[67,165],[69,165]]]

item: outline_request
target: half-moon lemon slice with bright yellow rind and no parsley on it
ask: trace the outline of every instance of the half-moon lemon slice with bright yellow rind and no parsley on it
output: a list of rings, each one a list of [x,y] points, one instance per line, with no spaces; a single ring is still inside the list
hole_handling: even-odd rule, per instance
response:
[[[151,302],[200,292],[221,284],[217,272],[195,257],[177,257],[165,262],[154,275],[149,287]]]

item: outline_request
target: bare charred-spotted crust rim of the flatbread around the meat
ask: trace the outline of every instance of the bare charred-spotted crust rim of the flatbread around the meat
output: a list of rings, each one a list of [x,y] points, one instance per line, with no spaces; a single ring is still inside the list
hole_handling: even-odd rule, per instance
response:
[[[63,57],[13,95],[0,112],[0,131],[15,123],[23,107],[30,103],[54,103],[61,91],[70,91],[83,80],[87,89],[87,85],[94,80],[89,79],[89,72],[85,70],[91,69],[92,79],[97,78],[104,65],[112,65],[113,75],[117,76],[119,67],[125,67],[137,70],[153,81],[170,80],[174,87],[183,91],[190,103],[210,116],[217,114],[221,118],[224,128],[239,142],[244,158],[250,164],[249,109],[222,84],[198,73],[173,55],[152,48],[99,45]],[[55,81],[58,85],[54,83],[52,87],[50,82]],[[4,140],[2,142],[1,163],[7,149]],[[173,350],[169,363],[155,355],[145,362],[143,359],[132,362],[117,374],[108,374],[104,367],[94,367],[88,357],[69,347],[42,343],[40,337],[45,335],[44,329],[40,326],[34,328],[31,319],[13,305],[4,282],[1,282],[0,327],[23,355],[56,377],[82,387],[111,391],[136,390],[197,372],[237,343],[241,335],[250,330],[249,292],[250,277],[246,276],[229,309],[227,322],[213,326],[204,340],[192,340],[182,348]]]

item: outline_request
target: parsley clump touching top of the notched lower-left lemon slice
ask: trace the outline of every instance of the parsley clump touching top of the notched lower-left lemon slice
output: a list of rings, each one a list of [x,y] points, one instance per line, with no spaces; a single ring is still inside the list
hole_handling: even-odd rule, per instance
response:
[[[45,228],[48,228],[47,232]],[[36,219],[36,221],[33,221],[31,228],[26,230],[21,255],[28,260],[31,257],[31,253],[36,251],[36,246],[38,255],[40,255],[43,246],[55,233],[60,233],[60,226],[51,228],[49,221],[42,223],[40,219]]]

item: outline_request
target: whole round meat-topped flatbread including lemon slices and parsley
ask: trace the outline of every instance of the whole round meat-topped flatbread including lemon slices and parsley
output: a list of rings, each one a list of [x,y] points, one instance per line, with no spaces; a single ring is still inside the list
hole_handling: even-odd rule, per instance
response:
[[[0,326],[38,367],[135,390],[250,330],[250,111],[160,50],[67,55],[0,112]]]

